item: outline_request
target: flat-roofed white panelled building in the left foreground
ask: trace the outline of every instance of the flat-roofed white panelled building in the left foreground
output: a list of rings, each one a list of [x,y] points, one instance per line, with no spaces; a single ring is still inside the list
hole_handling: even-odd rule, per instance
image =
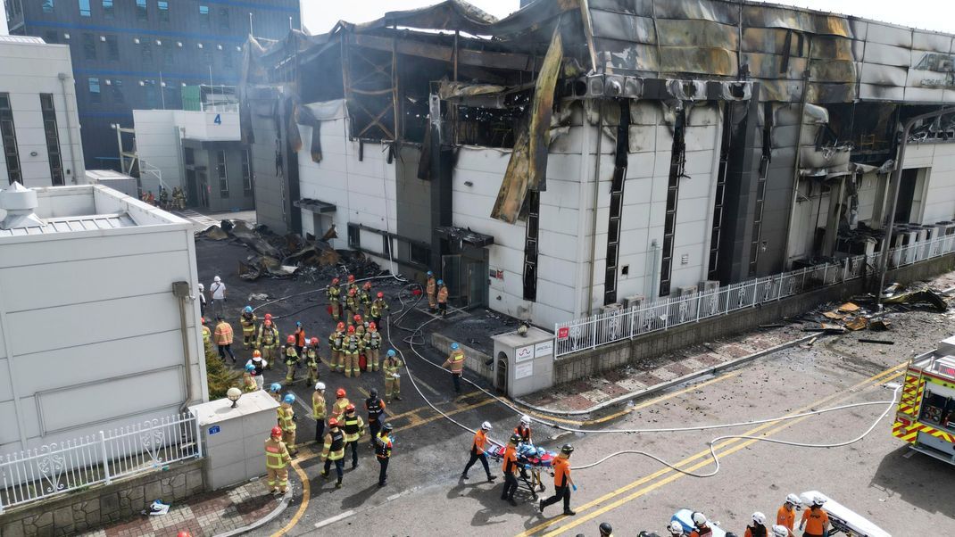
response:
[[[208,398],[190,223],[101,185],[0,192],[0,453]]]

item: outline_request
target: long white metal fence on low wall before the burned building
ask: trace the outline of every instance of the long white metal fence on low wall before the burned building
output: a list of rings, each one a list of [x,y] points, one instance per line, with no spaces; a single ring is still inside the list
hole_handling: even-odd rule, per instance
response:
[[[955,235],[923,240],[889,251],[889,267],[938,258],[955,251]],[[632,339],[671,326],[726,315],[732,311],[874,274],[880,254],[840,259],[766,278],[750,279],[684,297],[663,297],[617,311],[558,322],[554,356]],[[869,267],[868,269],[866,267]]]

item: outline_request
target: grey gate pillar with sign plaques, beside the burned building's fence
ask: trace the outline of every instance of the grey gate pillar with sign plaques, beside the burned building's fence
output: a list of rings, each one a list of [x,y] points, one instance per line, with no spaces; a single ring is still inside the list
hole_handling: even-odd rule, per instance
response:
[[[494,340],[494,387],[520,397],[554,385],[554,335],[530,327],[491,337]]]

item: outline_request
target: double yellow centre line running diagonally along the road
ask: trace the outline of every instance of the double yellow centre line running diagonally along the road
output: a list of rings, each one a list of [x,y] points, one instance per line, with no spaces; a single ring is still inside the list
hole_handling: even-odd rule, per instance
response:
[[[894,374],[893,374],[893,373],[894,373]],[[809,410],[810,408],[816,407],[816,406],[818,406],[818,405],[820,405],[820,404],[822,404],[822,403],[828,403],[828,402],[832,401],[833,399],[836,399],[835,403],[842,403],[842,402],[844,402],[844,401],[847,401],[847,400],[849,400],[849,399],[852,399],[852,398],[856,395],[856,394],[855,394],[856,390],[859,390],[859,388],[868,388],[868,387],[875,386],[875,385],[877,385],[877,384],[879,384],[879,383],[882,383],[882,382],[889,382],[889,381],[895,380],[895,379],[901,377],[901,376],[902,376],[902,373],[903,373],[903,372],[902,372],[902,371],[899,371],[897,368],[892,368],[892,369],[889,369],[889,370],[887,370],[887,371],[883,371],[883,372],[881,372],[880,374],[876,375],[875,377],[871,377],[871,378],[867,379],[866,381],[862,382],[862,383],[865,384],[864,386],[861,386],[861,385],[860,385],[861,383],[860,383],[860,384],[856,384],[855,386],[853,386],[853,387],[851,387],[851,388],[845,390],[846,392],[852,392],[852,393],[850,393],[850,394],[848,394],[848,395],[846,395],[846,396],[844,396],[844,397],[838,398],[838,394],[834,394],[834,395],[831,395],[831,396],[827,396],[827,397],[825,397],[825,398],[823,398],[823,399],[821,399],[821,400],[818,400],[818,401],[815,402],[815,403],[806,405],[806,406],[804,406],[803,408],[800,408],[800,409],[798,409],[798,410],[792,412],[790,415],[800,414],[800,413],[805,412],[805,411]],[[889,376],[888,376],[888,377],[884,377],[885,375],[889,375]],[[884,377],[884,378],[883,378],[883,377]],[[840,392],[840,393],[842,393],[842,392]],[[771,436],[771,435],[773,435],[773,434],[775,434],[775,433],[777,433],[777,432],[779,432],[779,431],[781,431],[781,430],[784,430],[784,429],[786,429],[786,428],[789,428],[790,426],[793,426],[793,425],[795,425],[796,423],[802,422],[802,421],[807,420],[807,419],[809,419],[809,418],[811,418],[811,417],[812,417],[812,416],[803,416],[803,417],[801,417],[801,418],[796,418],[795,420],[789,420],[789,421],[787,421],[787,422],[783,422],[783,423],[779,424],[778,426],[776,426],[775,428],[770,429],[770,430],[768,430],[768,431],[762,433],[760,436],[763,437],[763,438],[769,437],[769,436]],[[755,432],[758,432],[758,430],[763,429],[763,428],[766,428],[766,427],[768,427],[768,426],[772,426],[772,425],[774,425],[775,423],[779,423],[779,422],[764,423],[764,424],[761,425],[760,427],[756,427],[755,429],[753,429],[753,430],[751,430],[751,431],[747,431],[747,432],[745,432],[745,433],[741,433],[740,436],[753,436]],[[748,446],[750,446],[750,445],[752,445],[752,444],[755,444],[755,443],[757,443],[757,442],[759,442],[759,441],[758,441],[758,440],[752,440],[752,439],[741,439],[741,438],[728,439],[727,441],[723,442],[722,444],[716,445],[716,446],[715,446],[715,451],[716,451],[716,453],[717,453],[717,457],[720,458],[720,459],[722,459],[722,458],[724,458],[725,456],[732,455],[732,453],[735,453],[736,451],[739,451],[740,449],[743,449],[743,448],[745,448],[745,447],[748,447]],[[727,447],[727,446],[730,446],[731,444],[736,444],[736,445],[732,445],[732,447],[729,447],[728,449],[725,449],[725,450],[723,450],[723,451],[720,451],[720,449],[722,449],[722,448],[724,448],[724,447]],[[689,466],[689,467],[684,467],[687,463],[690,463],[692,460],[695,460],[695,459],[700,458],[701,454],[703,454],[704,456],[708,456],[707,460],[701,461],[701,462],[696,463],[695,465],[691,465],[691,466]],[[683,470],[685,470],[685,471],[693,472],[693,471],[696,471],[697,469],[702,468],[702,467],[705,467],[705,466],[707,466],[707,465],[712,465],[713,461],[712,461],[711,457],[709,457],[709,455],[710,455],[710,450],[707,449],[707,450],[705,450],[705,451],[701,451],[700,453],[697,453],[696,455],[694,455],[693,457],[690,457],[689,459],[685,459],[685,460],[683,460],[683,461],[677,463],[676,465],[679,466],[681,469],[683,469]],[[641,488],[640,490],[637,490],[636,492],[631,493],[630,495],[626,496],[625,498],[618,499],[617,501],[615,501],[615,502],[613,502],[613,503],[611,503],[611,504],[609,504],[609,505],[607,505],[607,506],[601,507],[601,508],[599,508],[599,509],[597,509],[597,510],[595,510],[595,511],[591,511],[591,512],[585,514],[583,517],[575,518],[575,519],[573,519],[573,522],[570,523],[569,525],[566,525],[566,526],[563,526],[563,527],[559,527],[559,528],[557,528],[557,529],[555,529],[555,530],[553,530],[553,531],[551,531],[551,532],[549,532],[549,533],[546,533],[546,534],[544,534],[544,537],[551,537],[551,536],[554,536],[554,535],[559,535],[559,534],[562,533],[563,531],[566,531],[566,530],[568,530],[568,529],[570,529],[570,528],[573,528],[573,527],[577,527],[578,525],[583,524],[584,522],[586,522],[586,521],[588,521],[588,520],[591,520],[591,519],[593,519],[594,517],[597,517],[597,516],[599,516],[599,515],[605,513],[606,511],[608,511],[608,510],[610,510],[610,509],[616,508],[616,507],[618,507],[618,506],[622,506],[622,505],[626,504],[626,503],[629,502],[629,501],[632,501],[632,500],[634,500],[634,499],[636,499],[636,498],[639,498],[640,496],[643,496],[644,494],[647,494],[647,492],[650,492],[650,491],[652,491],[652,490],[655,490],[656,488],[659,488],[660,486],[667,485],[668,483],[671,483],[671,482],[673,482],[673,481],[675,481],[675,480],[677,480],[677,479],[683,478],[683,477],[690,477],[690,476],[687,476],[685,473],[677,472],[677,471],[672,470],[672,469],[670,469],[670,468],[668,468],[668,467],[667,467],[667,468],[663,468],[662,470],[657,471],[657,472],[655,472],[654,474],[652,474],[652,475],[650,475],[650,476],[647,476],[647,477],[645,477],[645,478],[641,478],[641,479],[638,480],[637,482],[634,482],[634,483],[631,483],[631,484],[626,485],[626,486],[624,486],[624,487],[621,487],[621,488],[619,488],[618,490],[616,490],[616,491],[614,491],[614,492],[611,492],[610,494],[606,494],[605,496],[601,497],[599,500],[594,501],[594,502],[590,502],[590,503],[586,504],[584,507],[578,507],[578,511],[584,510],[584,509],[586,509],[586,508],[590,508],[591,506],[596,506],[596,505],[598,505],[599,503],[603,502],[605,499],[608,499],[608,498],[611,498],[611,497],[617,497],[617,496],[619,496],[620,493],[622,493],[622,492],[626,492],[627,490],[629,490],[629,489],[631,489],[631,488],[633,488],[633,487],[635,487],[635,486],[644,485],[644,484],[646,484],[646,483],[648,483],[648,482],[650,482],[650,481],[653,481],[654,479],[656,479],[656,478],[658,478],[658,477],[662,477],[662,476],[665,475],[665,474],[672,474],[672,475],[669,475],[668,477],[666,477],[665,479],[663,479],[663,480],[661,480],[661,481],[659,481],[659,482],[655,482],[655,483],[652,483],[652,484],[650,484],[650,485],[647,485],[646,487]],[[521,534],[521,535],[530,535],[530,534],[532,534],[532,533],[536,533],[536,532],[538,532],[538,531],[541,531],[542,529],[546,529],[547,527],[550,527],[550,526],[553,526],[554,524],[557,524],[557,523],[562,522],[565,518],[566,518],[566,517],[564,517],[563,515],[561,515],[560,517],[555,518],[555,519],[552,519],[552,520],[550,520],[550,521],[547,521],[546,523],[541,524],[541,525],[539,525],[538,527],[531,528],[530,530],[527,530],[525,533],[523,533],[523,534]]]

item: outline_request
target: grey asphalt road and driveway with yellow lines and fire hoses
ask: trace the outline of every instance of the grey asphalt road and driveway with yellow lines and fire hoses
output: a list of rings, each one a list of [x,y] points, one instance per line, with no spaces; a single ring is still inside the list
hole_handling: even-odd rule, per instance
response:
[[[205,276],[212,274],[210,270],[223,270],[211,265],[224,263],[224,267],[233,261],[223,259],[222,252],[211,259],[206,255],[215,252],[215,248],[199,249],[203,281],[211,280],[211,276]],[[229,279],[226,282],[230,283]],[[247,288],[278,286],[280,289],[267,291],[278,294],[300,292],[302,285],[261,280],[247,284]],[[235,285],[237,290],[244,286],[244,282]],[[398,290],[398,286],[389,288],[390,297]],[[234,305],[238,309],[244,303]],[[281,314],[308,305],[308,301],[290,300],[271,309],[273,314]],[[317,302],[313,305],[316,307],[296,315],[305,319],[307,328],[315,326],[324,349],[330,320],[325,319],[324,308],[317,307]],[[393,301],[393,309],[398,307]],[[927,350],[949,335],[950,323],[938,322],[933,316],[936,314],[913,312],[911,317],[896,320],[893,337],[901,344],[864,345],[855,341],[856,335],[820,339],[811,348],[779,351],[720,377],[610,409],[607,413],[614,416],[612,419],[582,426],[738,423],[839,404],[887,401],[893,395],[893,382],[901,382],[902,364],[911,353]],[[414,327],[428,319],[426,314],[415,312],[401,324]],[[280,320],[279,325],[286,330],[293,322]],[[408,335],[395,330],[395,341],[399,334],[402,338]],[[495,426],[492,436],[506,438],[517,422],[513,411],[473,388],[455,397],[446,373],[408,353],[407,344],[402,342],[398,347],[406,351],[412,373],[419,376],[421,389],[431,403],[472,427],[490,421]],[[423,352],[433,361],[443,360],[433,350]],[[380,373],[345,379],[329,374],[325,368],[321,372],[329,393],[339,385],[350,395],[372,386],[383,391]],[[283,376],[283,369],[273,370],[271,376],[266,375],[266,382]],[[580,486],[572,502],[576,516],[563,517],[560,506],[550,506],[541,515],[525,490],[518,493],[520,506],[501,502],[500,480],[493,485],[485,483],[480,479],[479,465],[471,471],[471,481],[458,480],[467,461],[471,433],[432,410],[414,391],[407,375],[404,377],[404,401],[389,405],[389,420],[396,429],[389,485],[376,485],[377,464],[371,449],[363,447],[361,464],[346,471],[344,487],[336,490],[333,479],[325,481],[318,476],[321,464],[317,451],[303,446],[295,466],[306,486],[297,485],[292,505],[256,535],[597,535],[601,522],[612,524],[615,534],[635,535],[641,529],[662,531],[670,515],[681,507],[706,512],[725,529],[741,535],[753,511],[762,511],[772,519],[787,493],[810,489],[826,493],[896,536],[944,534],[955,528],[955,502],[951,501],[955,497],[955,467],[918,453],[913,455],[891,436],[891,414],[862,441],[843,447],[721,440],[716,443],[719,472],[707,478],[687,476],[644,456],[621,455],[574,472]],[[301,383],[293,391],[305,401],[311,393]],[[685,470],[710,473],[714,465],[708,443],[715,437],[745,435],[809,444],[839,443],[859,436],[885,407],[863,406],[784,422],[680,433],[584,435],[538,426],[535,438],[550,448],[572,442],[576,447],[572,458],[575,465],[595,462],[612,452],[639,449]],[[300,443],[310,439],[314,430],[302,410],[298,422]],[[492,467],[492,472],[499,474],[499,466]],[[551,492],[552,481],[545,477],[544,483],[547,493]]]

